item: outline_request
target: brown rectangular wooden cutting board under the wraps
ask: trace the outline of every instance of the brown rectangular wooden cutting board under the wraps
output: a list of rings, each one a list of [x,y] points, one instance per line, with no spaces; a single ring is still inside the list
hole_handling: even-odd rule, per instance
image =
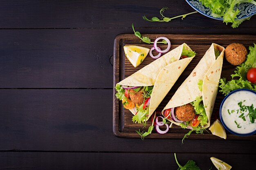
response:
[[[209,34],[201,34],[201,35],[180,35],[180,34],[144,34],[144,36],[148,36],[151,41],[154,41],[157,37],[167,37],[171,41],[171,50],[175,49],[177,46],[181,45],[182,43],[186,43],[189,47],[197,53],[195,58],[190,62],[190,64],[186,67],[182,75],[179,77],[177,82],[171,88],[171,91],[166,95],[164,100],[158,106],[156,110],[162,111],[164,106],[168,103],[171,99],[177,88],[184,82],[186,77],[189,76],[193,68],[198,64],[200,59],[204,56],[204,53],[209,49],[211,43],[216,43],[221,46],[226,47],[231,43],[241,43],[247,48],[252,46],[253,43],[256,43],[256,36],[255,35],[209,35]],[[114,72],[113,72],[113,132],[114,135],[117,137],[126,137],[126,138],[140,138],[135,130],[143,131],[148,130],[148,127],[152,124],[151,119],[147,121],[146,127],[142,124],[134,124],[132,122],[132,113],[129,110],[124,109],[123,104],[119,102],[119,99],[115,97],[115,85],[120,82],[121,80],[125,79],[129,75],[135,73],[139,69],[143,68],[147,64],[150,64],[154,61],[149,55],[146,59],[136,68],[132,66],[132,64],[127,59],[126,55],[124,54],[124,46],[125,45],[138,45],[144,46],[147,48],[152,48],[153,44],[146,44],[144,42],[140,42],[139,38],[135,37],[134,34],[120,34],[117,35],[115,38],[114,44]],[[159,45],[162,46],[162,49],[166,48],[166,45]],[[248,50],[249,52],[249,50]],[[154,54],[154,53],[153,53]],[[155,53],[156,54],[156,53]],[[221,78],[226,77],[227,81],[231,79],[231,74],[234,73],[236,66],[233,66],[227,62],[226,59],[223,61],[222,66],[222,74]],[[185,94],[184,94],[185,95]],[[213,108],[213,113],[211,116],[211,123],[216,120],[216,115],[219,115],[220,104],[224,99],[224,95],[218,92],[216,97],[216,102]],[[158,134],[155,129],[153,132],[148,135],[146,138],[153,138],[153,139],[182,139],[184,135],[189,132],[189,129],[182,129],[180,126],[173,125],[172,128],[166,134]],[[229,133],[227,133],[227,140],[256,140],[256,135],[247,136],[247,137],[240,137]],[[204,134],[196,134],[192,132],[189,136],[189,139],[214,139],[214,140],[224,140],[220,137],[211,134],[211,131],[208,130],[204,132]]]

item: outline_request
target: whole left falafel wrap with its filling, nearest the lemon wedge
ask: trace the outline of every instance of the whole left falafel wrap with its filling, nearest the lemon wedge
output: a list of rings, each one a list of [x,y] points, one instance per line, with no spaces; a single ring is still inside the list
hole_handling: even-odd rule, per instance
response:
[[[194,56],[184,43],[116,84],[116,97],[134,123],[146,123]]]

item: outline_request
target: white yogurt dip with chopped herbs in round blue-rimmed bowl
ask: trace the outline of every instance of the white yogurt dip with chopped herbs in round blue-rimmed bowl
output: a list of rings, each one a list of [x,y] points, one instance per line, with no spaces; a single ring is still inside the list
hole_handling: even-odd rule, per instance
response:
[[[239,90],[230,94],[222,103],[222,124],[228,130],[245,135],[256,130],[256,94]]]

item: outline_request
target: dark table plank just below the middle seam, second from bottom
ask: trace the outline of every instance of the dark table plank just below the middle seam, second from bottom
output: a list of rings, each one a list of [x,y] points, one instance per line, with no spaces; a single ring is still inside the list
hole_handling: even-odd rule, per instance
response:
[[[112,89],[2,89],[0,96],[0,151],[256,152],[255,141],[115,137]]]

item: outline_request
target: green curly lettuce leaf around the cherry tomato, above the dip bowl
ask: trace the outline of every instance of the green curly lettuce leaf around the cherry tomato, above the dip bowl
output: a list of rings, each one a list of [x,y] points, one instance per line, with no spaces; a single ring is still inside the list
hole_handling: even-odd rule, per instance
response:
[[[246,77],[247,71],[250,68],[256,67],[256,44],[254,44],[254,47],[250,46],[249,51],[246,61],[236,67],[235,73],[231,75],[232,79],[229,82],[227,82],[226,78],[220,79],[219,87],[222,94],[227,95],[231,91],[241,88],[256,91],[256,84],[249,82]]]

